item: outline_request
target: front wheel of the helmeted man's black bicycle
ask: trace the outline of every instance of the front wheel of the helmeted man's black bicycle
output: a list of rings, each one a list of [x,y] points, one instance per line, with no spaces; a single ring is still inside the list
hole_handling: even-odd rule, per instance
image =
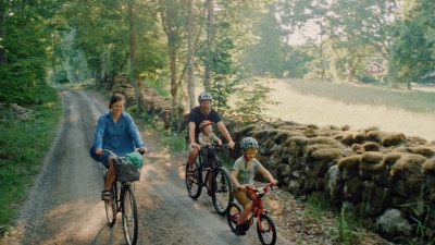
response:
[[[229,204],[234,200],[233,184],[229,172],[224,167],[214,169],[212,180],[211,199],[219,215],[225,215]]]

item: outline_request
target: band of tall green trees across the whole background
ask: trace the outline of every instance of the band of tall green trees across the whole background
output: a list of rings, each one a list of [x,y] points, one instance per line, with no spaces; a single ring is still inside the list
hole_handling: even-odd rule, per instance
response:
[[[192,107],[202,85],[229,109],[252,76],[383,83],[435,81],[431,0],[0,1],[0,100],[114,77]],[[294,44],[295,34],[303,44]],[[382,75],[365,73],[377,62]],[[262,89],[259,89],[262,90]],[[241,97],[240,97],[241,98]]]

